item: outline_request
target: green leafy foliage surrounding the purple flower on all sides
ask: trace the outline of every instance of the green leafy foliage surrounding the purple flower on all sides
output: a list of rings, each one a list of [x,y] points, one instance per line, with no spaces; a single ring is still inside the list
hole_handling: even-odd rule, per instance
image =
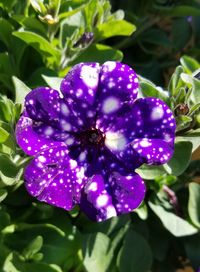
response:
[[[0,271],[198,271],[199,31],[198,0],[0,0]],[[142,205],[95,223],[26,193],[14,131],[31,88],[59,89],[74,64],[106,60],[137,71],[139,95],[171,107],[177,135],[167,164],[137,169]]]

